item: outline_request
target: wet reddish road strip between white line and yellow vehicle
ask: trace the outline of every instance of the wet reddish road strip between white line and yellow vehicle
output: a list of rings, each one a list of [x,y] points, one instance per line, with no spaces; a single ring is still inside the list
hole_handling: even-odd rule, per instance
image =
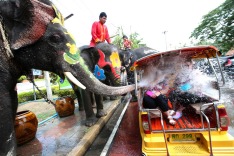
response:
[[[128,105],[107,155],[141,156],[141,140],[138,104],[132,102]]]

